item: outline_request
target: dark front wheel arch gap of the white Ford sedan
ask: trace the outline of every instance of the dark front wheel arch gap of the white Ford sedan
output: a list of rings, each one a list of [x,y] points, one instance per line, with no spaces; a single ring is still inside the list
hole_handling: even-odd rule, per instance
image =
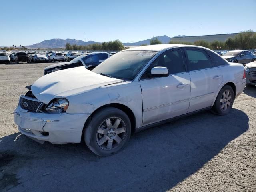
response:
[[[135,115],[134,115],[134,112],[132,112],[132,110],[125,106],[124,104],[120,104],[120,103],[110,103],[110,104],[106,104],[106,105],[103,105],[99,108],[97,108],[96,110],[94,110],[94,112],[92,112],[92,114],[90,114],[90,116],[87,118],[86,122],[84,123],[84,128],[83,128],[83,131],[82,131],[82,135],[81,135],[81,140],[82,140],[82,136],[83,136],[83,133],[84,133],[84,130],[86,128],[86,126],[90,123],[90,120],[92,119],[92,117],[94,116],[94,114],[96,114],[99,110],[103,109],[103,108],[106,108],[106,107],[114,107],[114,108],[118,108],[120,110],[122,110],[123,112],[125,112],[125,114],[129,117],[130,119],[130,122],[131,122],[131,126],[132,126],[132,132],[135,131],[135,127],[136,127],[136,118],[135,118]]]

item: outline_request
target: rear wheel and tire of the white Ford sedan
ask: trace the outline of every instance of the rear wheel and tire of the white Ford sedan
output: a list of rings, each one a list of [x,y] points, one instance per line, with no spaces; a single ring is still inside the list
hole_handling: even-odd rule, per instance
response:
[[[234,91],[229,85],[220,90],[212,110],[215,114],[226,115],[230,112],[234,103]]]

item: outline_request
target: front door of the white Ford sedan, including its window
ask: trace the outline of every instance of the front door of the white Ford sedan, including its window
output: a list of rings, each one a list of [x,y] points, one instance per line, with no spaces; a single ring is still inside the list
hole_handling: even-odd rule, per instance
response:
[[[168,77],[152,78],[153,67],[169,70]],[[168,50],[148,67],[140,79],[143,126],[186,114],[190,100],[190,75],[185,71],[182,50]]]

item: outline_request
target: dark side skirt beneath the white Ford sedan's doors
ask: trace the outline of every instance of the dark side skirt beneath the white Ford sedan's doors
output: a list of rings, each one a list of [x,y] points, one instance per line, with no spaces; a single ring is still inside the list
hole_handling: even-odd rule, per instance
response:
[[[196,114],[198,112],[210,110],[211,108],[212,107],[206,107],[206,108],[203,108],[203,109],[200,109],[200,110],[196,110],[196,111],[193,111],[193,112],[190,112],[190,113],[186,113],[186,114],[183,114],[183,115],[180,115],[180,116],[177,116],[177,117],[173,117],[173,118],[170,118],[170,119],[166,119],[166,120],[163,120],[163,121],[159,121],[159,122],[156,122],[156,123],[145,125],[145,126],[137,128],[135,130],[135,133],[140,132],[140,131],[145,130],[145,129],[148,129],[148,128],[151,128],[151,127],[154,127],[154,126],[158,126],[158,125],[161,125],[161,124],[164,124],[164,123],[168,123],[168,122],[171,122],[171,121],[174,121],[174,120],[186,117],[186,116],[190,116],[190,115]]]

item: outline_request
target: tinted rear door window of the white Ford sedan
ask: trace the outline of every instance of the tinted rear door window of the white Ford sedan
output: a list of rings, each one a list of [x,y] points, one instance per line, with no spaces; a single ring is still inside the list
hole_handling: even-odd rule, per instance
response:
[[[186,49],[188,56],[188,70],[201,70],[212,67],[212,61],[204,50]]]

